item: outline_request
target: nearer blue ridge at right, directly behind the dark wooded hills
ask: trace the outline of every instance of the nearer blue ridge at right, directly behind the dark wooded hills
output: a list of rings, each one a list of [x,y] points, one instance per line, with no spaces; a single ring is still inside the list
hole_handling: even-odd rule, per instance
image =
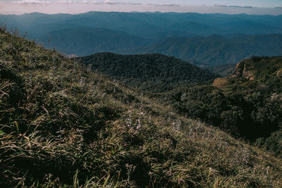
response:
[[[149,46],[125,51],[121,54],[161,53],[192,63],[214,66],[237,63],[251,56],[281,56],[282,35],[243,35],[238,37],[173,37]]]

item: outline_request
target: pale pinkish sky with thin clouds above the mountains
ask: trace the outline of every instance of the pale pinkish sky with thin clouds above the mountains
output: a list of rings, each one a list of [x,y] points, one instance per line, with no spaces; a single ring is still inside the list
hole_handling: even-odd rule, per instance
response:
[[[120,12],[198,12],[282,14],[282,0],[0,0],[0,14]]]

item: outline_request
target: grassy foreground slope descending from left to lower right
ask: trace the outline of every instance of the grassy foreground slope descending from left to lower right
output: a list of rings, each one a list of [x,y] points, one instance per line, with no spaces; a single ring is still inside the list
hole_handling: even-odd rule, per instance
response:
[[[281,187],[280,159],[0,33],[1,187]]]

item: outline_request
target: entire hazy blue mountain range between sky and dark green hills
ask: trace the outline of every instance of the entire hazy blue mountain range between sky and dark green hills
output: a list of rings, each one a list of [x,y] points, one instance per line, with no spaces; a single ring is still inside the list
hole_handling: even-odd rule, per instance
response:
[[[17,27],[22,34],[27,31],[29,39],[39,44],[79,56],[102,51],[161,53],[211,66],[237,63],[251,56],[281,55],[281,35],[274,33],[282,34],[282,15],[27,13],[0,15],[0,20],[8,27]],[[150,42],[154,44],[138,48]],[[268,43],[262,45],[264,42]]]

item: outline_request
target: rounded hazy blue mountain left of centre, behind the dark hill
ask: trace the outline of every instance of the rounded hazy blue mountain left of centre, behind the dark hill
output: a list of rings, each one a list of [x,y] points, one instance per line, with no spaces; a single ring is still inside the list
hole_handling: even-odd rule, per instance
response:
[[[152,40],[103,28],[80,27],[54,30],[39,37],[39,42],[50,49],[56,47],[63,54],[87,56],[104,51],[147,46]]]

